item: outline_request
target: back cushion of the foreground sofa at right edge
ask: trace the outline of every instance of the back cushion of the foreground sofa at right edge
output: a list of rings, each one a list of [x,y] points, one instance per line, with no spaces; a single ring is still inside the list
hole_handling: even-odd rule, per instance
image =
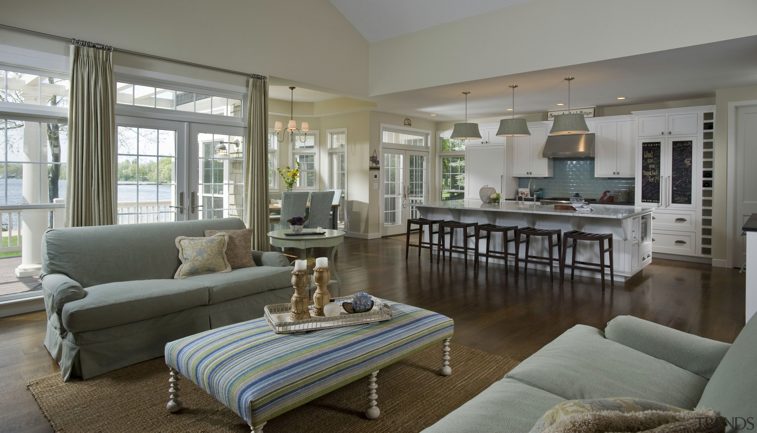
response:
[[[739,336],[715,369],[699,406],[712,407],[725,419],[738,420],[740,428],[752,429],[757,424],[757,314],[746,322]]]

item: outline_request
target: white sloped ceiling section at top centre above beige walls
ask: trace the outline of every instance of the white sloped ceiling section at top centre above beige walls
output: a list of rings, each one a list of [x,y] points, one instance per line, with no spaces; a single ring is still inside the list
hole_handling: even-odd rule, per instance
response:
[[[392,38],[528,0],[331,0],[368,42]]]

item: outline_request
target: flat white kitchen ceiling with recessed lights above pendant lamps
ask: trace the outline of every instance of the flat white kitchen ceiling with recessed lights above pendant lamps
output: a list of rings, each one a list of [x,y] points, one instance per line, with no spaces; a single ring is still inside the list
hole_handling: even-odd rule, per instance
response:
[[[565,76],[575,77],[572,107],[710,98],[715,89],[757,85],[757,36],[369,99],[378,103],[378,111],[459,120],[465,110],[461,92],[468,91],[468,117],[480,119],[512,113],[506,111],[511,106],[507,86],[516,84],[516,114],[544,113],[561,108],[556,105],[559,102],[568,102]],[[618,101],[621,96],[625,100]]]

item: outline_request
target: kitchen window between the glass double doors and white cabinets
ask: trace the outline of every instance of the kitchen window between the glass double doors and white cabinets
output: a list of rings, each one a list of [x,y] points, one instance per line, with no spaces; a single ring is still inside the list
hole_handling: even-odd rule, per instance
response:
[[[466,142],[450,139],[450,131],[438,136],[441,200],[465,198],[466,190]]]

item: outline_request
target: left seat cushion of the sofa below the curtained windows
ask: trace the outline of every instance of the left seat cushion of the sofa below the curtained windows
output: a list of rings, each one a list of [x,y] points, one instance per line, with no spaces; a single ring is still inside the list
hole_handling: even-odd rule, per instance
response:
[[[84,289],[86,297],[63,307],[70,332],[93,331],[207,305],[208,288],[190,279],[110,282]]]

